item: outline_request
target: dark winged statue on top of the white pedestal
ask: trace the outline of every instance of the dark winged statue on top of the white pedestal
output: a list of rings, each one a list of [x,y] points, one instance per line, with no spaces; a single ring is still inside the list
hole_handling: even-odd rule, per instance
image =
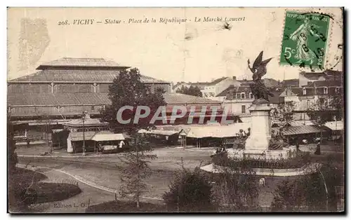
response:
[[[263,51],[261,51],[261,53],[258,55],[255,62],[253,62],[252,67],[250,67],[250,60],[247,60],[249,69],[253,73],[253,83],[250,84],[251,92],[255,97],[253,103],[256,103],[258,99],[265,99],[269,102],[270,100],[268,98],[268,95],[274,96],[272,92],[267,90],[267,88],[265,87],[265,83],[263,83],[262,81],[262,76],[265,76],[265,74],[267,74],[266,66],[268,62],[270,62],[270,60],[272,60],[272,57],[267,60],[263,60]]]

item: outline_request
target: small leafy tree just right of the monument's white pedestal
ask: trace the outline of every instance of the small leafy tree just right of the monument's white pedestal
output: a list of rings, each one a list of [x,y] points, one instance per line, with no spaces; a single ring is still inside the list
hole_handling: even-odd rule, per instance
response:
[[[284,104],[279,104],[277,108],[272,109],[271,116],[274,120],[281,121],[284,125],[288,125],[293,121],[293,110],[296,102],[288,101]]]

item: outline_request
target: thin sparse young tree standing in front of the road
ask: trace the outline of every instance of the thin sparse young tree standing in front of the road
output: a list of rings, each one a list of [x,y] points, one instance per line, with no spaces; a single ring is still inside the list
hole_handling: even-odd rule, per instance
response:
[[[133,195],[133,201],[139,208],[141,195],[147,190],[145,179],[150,177],[150,160],[157,158],[150,154],[152,149],[144,135],[135,134],[131,149],[122,160],[124,166],[118,167],[121,171],[121,195]]]

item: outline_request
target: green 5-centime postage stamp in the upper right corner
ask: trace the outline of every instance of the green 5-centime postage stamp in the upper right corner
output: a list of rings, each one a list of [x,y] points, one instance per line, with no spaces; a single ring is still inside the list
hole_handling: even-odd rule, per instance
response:
[[[331,17],[287,11],[280,64],[323,69]]]

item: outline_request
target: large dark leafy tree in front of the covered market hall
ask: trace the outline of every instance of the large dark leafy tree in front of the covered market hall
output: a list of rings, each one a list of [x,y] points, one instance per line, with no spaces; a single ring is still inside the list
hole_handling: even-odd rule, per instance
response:
[[[109,88],[109,98],[112,102],[111,106],[101,109],[101,121],[108,122],[110,128],[114,132],[135,132],[140,128],[150,127],[150,118],[140,118],[138,123],[133,123],[137,106],[150,107],[150,116],[153,116],[159,106],[164,106],[164,90],[157,88],[152,91],[145,83],[140,81],[141,75],[139,70],[134,68],[123,70],[114,78]],[[122,118],[127,120],[131,118],[131,122],[125,125],[119,124],[117,121],[117,111],[123,106],[133,106],[133,110],[125,110]]]

